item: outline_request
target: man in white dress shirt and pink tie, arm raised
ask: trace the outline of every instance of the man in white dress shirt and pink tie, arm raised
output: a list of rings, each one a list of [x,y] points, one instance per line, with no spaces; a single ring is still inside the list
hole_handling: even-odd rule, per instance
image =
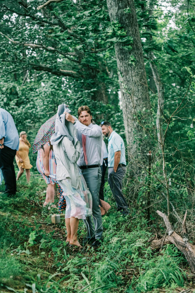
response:
[[[78,120],[69,113],[66,113],[66,120],[72,122],[78,130],[77,138],[81,142],[81,156],[77,164],[92,195],[93,222],[91,216],[85,222],[88,230],[87,241],[93,247],[98,247],[103,232],[102,216],[99,207],[99,191],[102,176],[100,168],[102,129],[97,124],[92,124],[92,115],[88,106],[78,108]]]

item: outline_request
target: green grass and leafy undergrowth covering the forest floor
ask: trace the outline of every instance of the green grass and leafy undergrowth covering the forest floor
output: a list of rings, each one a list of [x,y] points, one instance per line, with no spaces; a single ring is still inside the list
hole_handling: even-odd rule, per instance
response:
[[[67,246],[64,224],[51,223],[55,211],[43,209],[46,185],[40,176],[32,176],[27,185],[23,175],[17,190],[13,198],[0,193],[2,292],[177,292],[188,285],[183,255],[173,245],[152,251],[153,232],[144,214],[124,217],[116,212],[108,185],[111,209],[102,218],[102,245],[81,251]],[[85,235],[80,221],[80,243]]]

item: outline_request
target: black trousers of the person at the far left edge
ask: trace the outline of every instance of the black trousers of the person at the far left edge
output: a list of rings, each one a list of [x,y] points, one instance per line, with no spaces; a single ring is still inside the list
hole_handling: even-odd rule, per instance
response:
[[[16,149],[10,149],[4,146],[0,149],[0,168],[4,176],[5,190],[10,194],[16,193],[16,173],[13,160],[16,156]]]

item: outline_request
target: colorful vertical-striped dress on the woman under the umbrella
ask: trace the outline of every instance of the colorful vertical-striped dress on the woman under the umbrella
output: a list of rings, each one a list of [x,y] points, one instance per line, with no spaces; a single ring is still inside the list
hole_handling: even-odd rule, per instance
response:
[[[51,147],[50,147],[50,143],[47,142],[50,151],[49,151],[49,174],[51,174],[52,176],[56,176],[56,163],[55,163],[55,159],[54,159],[54,152],[52,151]],[[36,161],[36,166],[37,166],[37,170],[39,171],[39,173],[42,175],[43,179],[45,180],[45,182],[47,184],[52,183],[55,184],[56,180],[54,180],[53,178],[48,178],[47,176],[45,176],[43,173],[45,173],[45,169],[43,167],[43,159],[41,156],[41,150],[38,150],[37,153],[37,161]]]

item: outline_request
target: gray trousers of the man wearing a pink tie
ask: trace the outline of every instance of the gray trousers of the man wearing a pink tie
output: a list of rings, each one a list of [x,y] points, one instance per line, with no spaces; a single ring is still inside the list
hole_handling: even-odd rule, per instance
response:
[[[103,232],[102,215],[99,207],[99,192],[102,177],[101,168],[81,169],[81,171],[92,195],[93,221],[91,216],[88,216],[87,219],[84,220],[85,226],[87,227],[87,238],[95,237],[95,239],[100,239]]]

